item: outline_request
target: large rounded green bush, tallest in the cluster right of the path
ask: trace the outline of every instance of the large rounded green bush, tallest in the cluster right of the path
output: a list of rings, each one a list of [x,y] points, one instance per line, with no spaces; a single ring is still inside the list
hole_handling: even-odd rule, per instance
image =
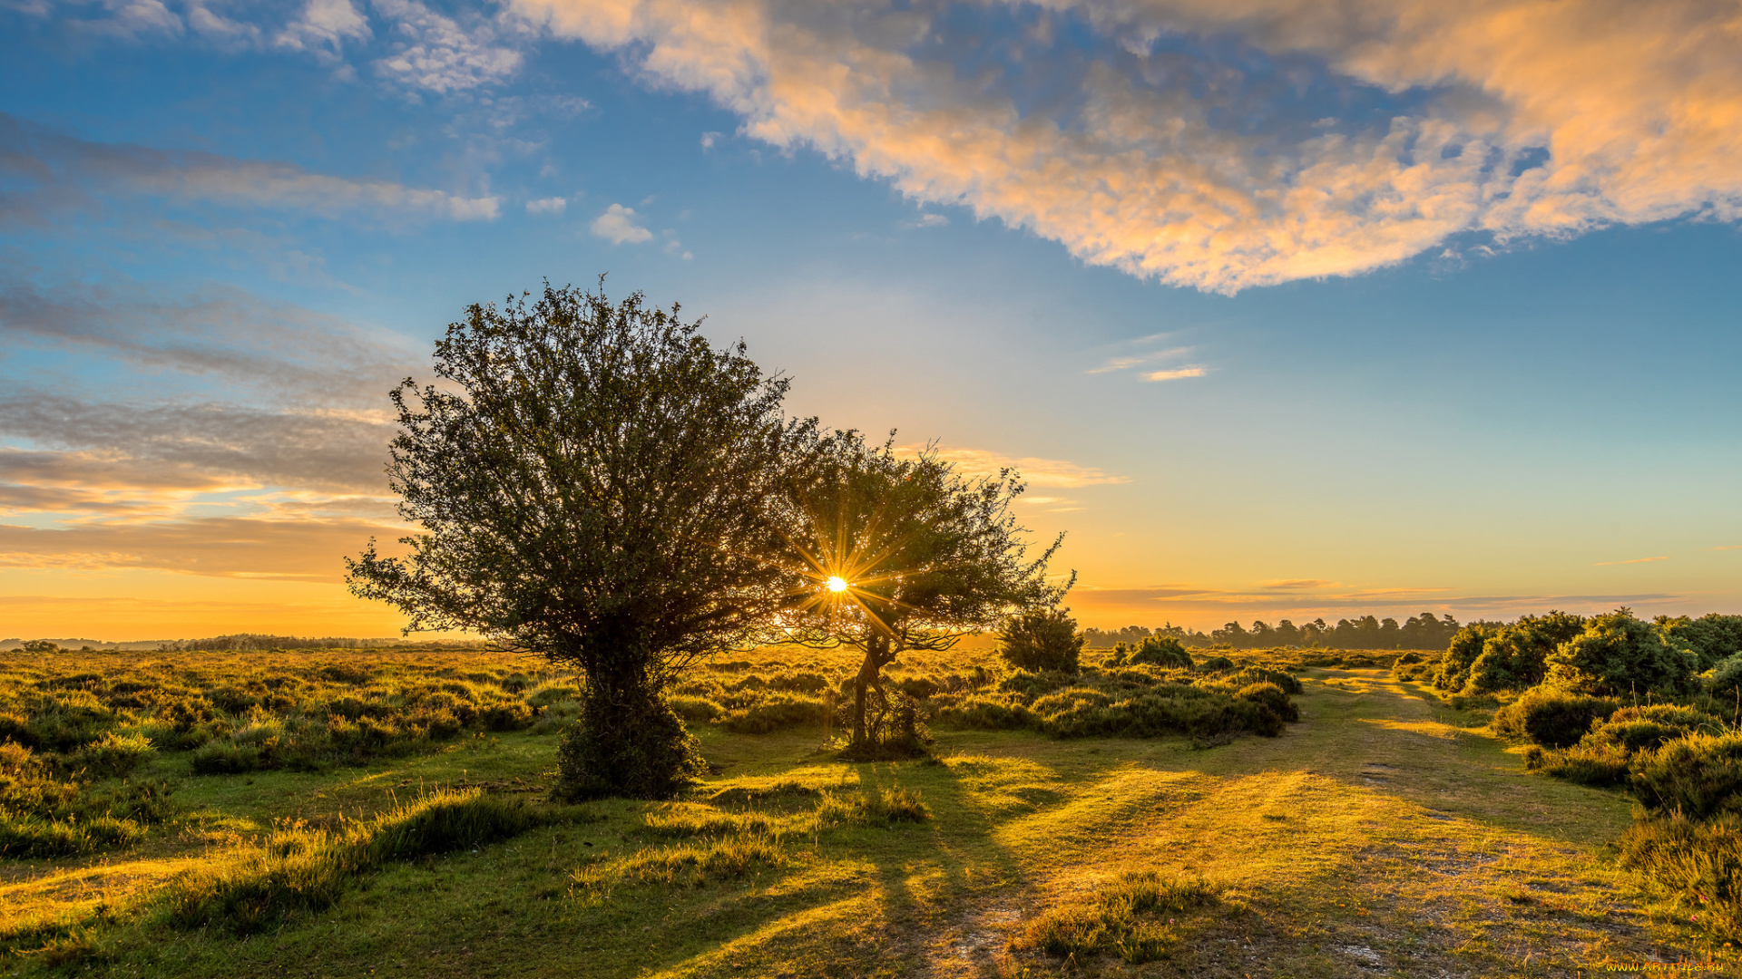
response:
[[[1664,631],[1625,608],[1592,617],[1585,631],[1549,655],[1549,679],[1599,697],[1676,697],[1698,672],[1693,650],[1672,646]]]

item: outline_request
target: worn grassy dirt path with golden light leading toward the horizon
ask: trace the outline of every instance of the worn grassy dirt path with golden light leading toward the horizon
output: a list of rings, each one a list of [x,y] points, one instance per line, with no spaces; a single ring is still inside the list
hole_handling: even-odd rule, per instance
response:
[[[1604,854],[1624,796],[1526,775],[1381,671],[1313,671],[1300,704],[1280,739],[1124,742],[1132,761],[1084,779],[1068,754],[1094,746],[1066,747],[1059,805],[995,833],[1031,873],[962,908],[928,972],[1056,969],[1002,958],[1009,937],[1131,868],[1202,874],[1251,908],[1146,976],[1575,977],[1697,953],[1664,941]]]

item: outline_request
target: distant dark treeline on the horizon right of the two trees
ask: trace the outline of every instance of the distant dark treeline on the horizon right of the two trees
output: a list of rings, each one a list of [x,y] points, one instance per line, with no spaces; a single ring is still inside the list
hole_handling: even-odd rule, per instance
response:
[[[1472,622],[1472,625],[1479,625]],[[1395,618],[1338,618],[1336,625],[1313,618],[1296,625],[1287,618],[1275,625],[1252,622],[1251,627],[1230,622],[1211,632],[1197,632],[1185,625],[1167,624],[1158,629],[1125,625],[1124,629],[1084,629],[1090,648],[1110,648],[1117,643],[1136,646],[1150,636],[1172,636],[1186,646],[1225,646],[1230,650],[1273,650],[1277,646],[1320,646],[1326,650],[1444,650],[1463,625],[1449,615],[1423,611],[1402,624]]]

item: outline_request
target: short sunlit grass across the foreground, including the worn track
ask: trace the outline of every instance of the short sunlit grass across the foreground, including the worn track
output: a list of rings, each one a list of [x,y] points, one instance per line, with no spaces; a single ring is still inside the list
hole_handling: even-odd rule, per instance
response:
[[[1181,737],[937,728],[932,761],[848,765],[817,725],[692,723],[711,763],[692,796],[557,807],[544,800],[561,700],[538,690],[563,678],[490,653],[416,657],[261,653],[225,669],[446,669],[491,686],[488,699],[542,704],[502,730],[472,723],[300,766],[195,775],[197,751],[153,754],[127,779],[167,782],[174,812],[139,841],[0,859],[0,934],[19,949],[0,967],[1413,977],[1716,958],[1712,969],[1733,969],[1730,949],[1655,913],[1615,868],[1624,794],[1526,775],[1486,718],[1392,681],[1376,660],[1301,669],[1301,719],[1273,739],[1200,749]],[[833,683],[847,669],[807,657],[739,657],[706,679]],[[125,660],[105,662],[77,669]],[[906,669],[972,665],[995,669],[984,653]],[[416,829],[442,805],[460,814],[453,826],[472,822]],[[341,880],[329,890],[296,883],[331,854]],[[246,904],[261,881],[303,888],[301,904],[272,918],[197,911],[213,894]]]

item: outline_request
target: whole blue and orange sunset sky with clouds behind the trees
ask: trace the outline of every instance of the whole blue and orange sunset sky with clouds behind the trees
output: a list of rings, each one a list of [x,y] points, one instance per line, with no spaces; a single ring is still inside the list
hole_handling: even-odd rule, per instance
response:
[[[388,636],[387,390],[645,291],[1085,625],[1742,613],[1733,0],[0,0],[0,638]]]

